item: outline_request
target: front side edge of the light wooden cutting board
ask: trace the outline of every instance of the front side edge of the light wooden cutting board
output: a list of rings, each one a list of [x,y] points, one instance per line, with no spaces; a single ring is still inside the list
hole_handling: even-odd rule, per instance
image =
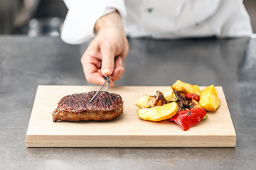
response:
[[[68,142],[66,142],[68,141]],[[205,141],[205,142],[201,142]],[[26,135],[26,147],[235,147],[236,135],[71,136]]]

